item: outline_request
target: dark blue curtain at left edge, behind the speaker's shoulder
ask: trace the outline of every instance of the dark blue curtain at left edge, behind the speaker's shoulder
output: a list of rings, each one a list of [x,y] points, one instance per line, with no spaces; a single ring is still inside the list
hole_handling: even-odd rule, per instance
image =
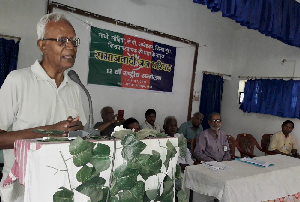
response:
[[[20,41],[0,38],[0,88],[7,75],[17,68]]]

